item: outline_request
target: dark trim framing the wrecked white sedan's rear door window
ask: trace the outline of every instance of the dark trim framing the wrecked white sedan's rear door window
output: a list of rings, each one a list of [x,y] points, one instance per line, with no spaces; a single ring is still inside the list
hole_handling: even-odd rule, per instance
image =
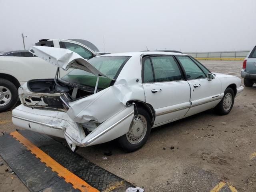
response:
[[[169,56],[169,57],[173,57],[174,58],[174,61],[176,62],[179,70],[180,70],[180,74],[182,75],[182,78],[184,80],[174,80],[174,81],[159,81],[159,82],[156,82],[156,78],[155,78],[155,71],[154,71],[154,67],[153,67],[153,63],[152,63],[152,60],[151,58],[152,57],[161,57],[161,56]],[[151,63],[151,68],[152,68],[152,72],[153,72],[153,78],[154,78],[154,82],[144,82],[144,64],[145,64],[145,60],[146,58],[150,58],[150,63]],[[183,69],[181,68],[180,66],[180,63],[177,62],[176,58],[175,58],[175,55],[146,55],[146,56],[143,56],[142,57],[142,84],[150,84],[150,83],[164,83],[164,82],[178,82],[178,81],[186,81],[186,78],[184,76],[184,73],[183,73]]]

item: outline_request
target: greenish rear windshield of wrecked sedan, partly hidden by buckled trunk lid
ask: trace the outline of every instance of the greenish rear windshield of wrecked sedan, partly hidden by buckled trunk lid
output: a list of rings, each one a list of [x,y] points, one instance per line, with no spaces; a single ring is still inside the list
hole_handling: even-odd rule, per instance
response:
[[[94,57],[88,60],[88,62],[103,74],[113,79],[116,79],[119,72],[122,70],[122,67],[129,58],[129,56]],[[73,69],[71,72],[63,76],[61,80],[73,84],[79,84],[85,87],[95,87],[97,76],[84,70]],[[112,80],[100,76],[98,82],[98,89],[105,89],[109,87],[111,85],[111,82]]]

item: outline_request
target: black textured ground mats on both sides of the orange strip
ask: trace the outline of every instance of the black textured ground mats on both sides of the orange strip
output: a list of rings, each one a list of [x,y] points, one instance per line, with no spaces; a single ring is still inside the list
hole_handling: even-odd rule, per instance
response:
[[[47,135],[29,130],[18,132],[56,162],[99,191],[108,191],[112,187],[111,192],[125,192],[128,187],[134,187],[131,183],[84,159]],[[0,136],[0,155],[33,192],[49,187],[52,192],[77,191],[9,134]],[[36,178],[36,181],[32,180],[33,178]],[[31,180],[31,183],[28,180]]]

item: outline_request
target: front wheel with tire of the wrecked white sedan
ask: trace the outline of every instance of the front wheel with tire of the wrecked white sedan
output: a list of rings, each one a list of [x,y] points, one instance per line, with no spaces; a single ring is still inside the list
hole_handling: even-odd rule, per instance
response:
[[[226,115],[228,114],[234,105],[235,94],[232,88],[226,88],[224,91],[224,96],[222,100],[218,103],[218,105],[214,108],[214,110],[219,115]]]

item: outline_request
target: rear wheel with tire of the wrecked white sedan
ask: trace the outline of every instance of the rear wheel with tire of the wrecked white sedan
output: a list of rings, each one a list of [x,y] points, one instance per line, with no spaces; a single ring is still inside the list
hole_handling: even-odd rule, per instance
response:
[[[140,106],[137,107],[137,112],[138,114],[134,117],[135,121],[130,131],[118,138],[121,148],[126,152],[133,152],[141,148],[150,135],[151,125],[148,112]]]

